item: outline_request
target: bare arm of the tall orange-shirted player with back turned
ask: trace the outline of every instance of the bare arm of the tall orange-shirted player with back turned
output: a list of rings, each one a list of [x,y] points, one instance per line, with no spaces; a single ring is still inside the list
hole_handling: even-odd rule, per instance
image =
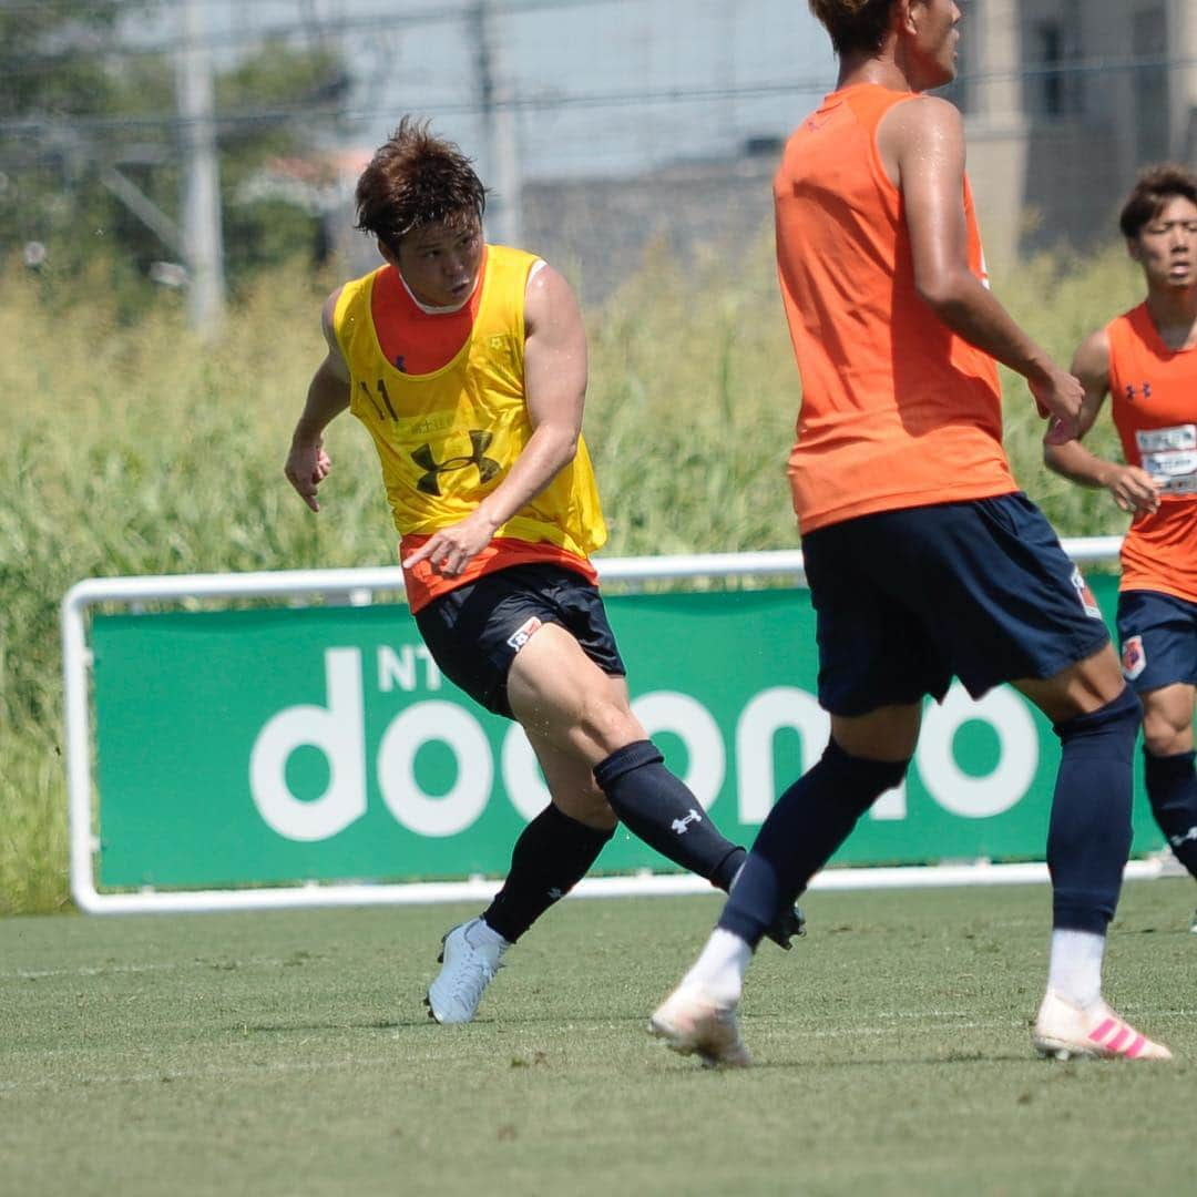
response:
[[[1055,417],[1050,443],[1070,439],[1076,435],[1081,384],[1015,323],[968,268],[960,113],[937,97],[898,104],[881,122],[877,148],[903,194],[919,296],[954,333],[1027,379],[1040,411]]]

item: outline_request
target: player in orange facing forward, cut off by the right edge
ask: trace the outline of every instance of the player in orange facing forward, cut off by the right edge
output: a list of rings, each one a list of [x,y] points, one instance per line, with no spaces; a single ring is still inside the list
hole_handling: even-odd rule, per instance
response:
[[[1132,516],[1118,596],[1123,673],[1143,704],[1152,810],[1197,876],[1197,176],[1173,164],[1144,171],[1119,226],[1147,298],[1088,336],[1073,371],[1084,385],[1077,436],[1110,395],[1123,461],[1080,440],[1046,445],[1044,456]]]

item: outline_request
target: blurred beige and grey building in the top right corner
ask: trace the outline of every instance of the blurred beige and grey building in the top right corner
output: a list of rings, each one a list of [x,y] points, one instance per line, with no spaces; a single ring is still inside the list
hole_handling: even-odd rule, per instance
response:
[[[1193,0],[971,0],[968,172],[992,261],[1117,236],[1142,165],[1197,154]]]

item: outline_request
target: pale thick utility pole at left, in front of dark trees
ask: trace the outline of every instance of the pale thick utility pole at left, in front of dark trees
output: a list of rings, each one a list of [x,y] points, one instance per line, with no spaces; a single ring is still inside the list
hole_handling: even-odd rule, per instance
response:
[[[203,43],[200,0],[183,0],[182,16],[178,115],[183,123],[187,157],[183,244],[190,277],[192,326],[201,333],[212,333],[224,314],[225,294],[212,57]]]

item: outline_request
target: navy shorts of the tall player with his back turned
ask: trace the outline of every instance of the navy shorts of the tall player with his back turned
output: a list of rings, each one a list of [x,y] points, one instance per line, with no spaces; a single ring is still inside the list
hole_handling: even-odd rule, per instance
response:
[[[1110,634],[1021,492],[859,516],[803,537],[819,701],[832,715],[1052,678]]]

